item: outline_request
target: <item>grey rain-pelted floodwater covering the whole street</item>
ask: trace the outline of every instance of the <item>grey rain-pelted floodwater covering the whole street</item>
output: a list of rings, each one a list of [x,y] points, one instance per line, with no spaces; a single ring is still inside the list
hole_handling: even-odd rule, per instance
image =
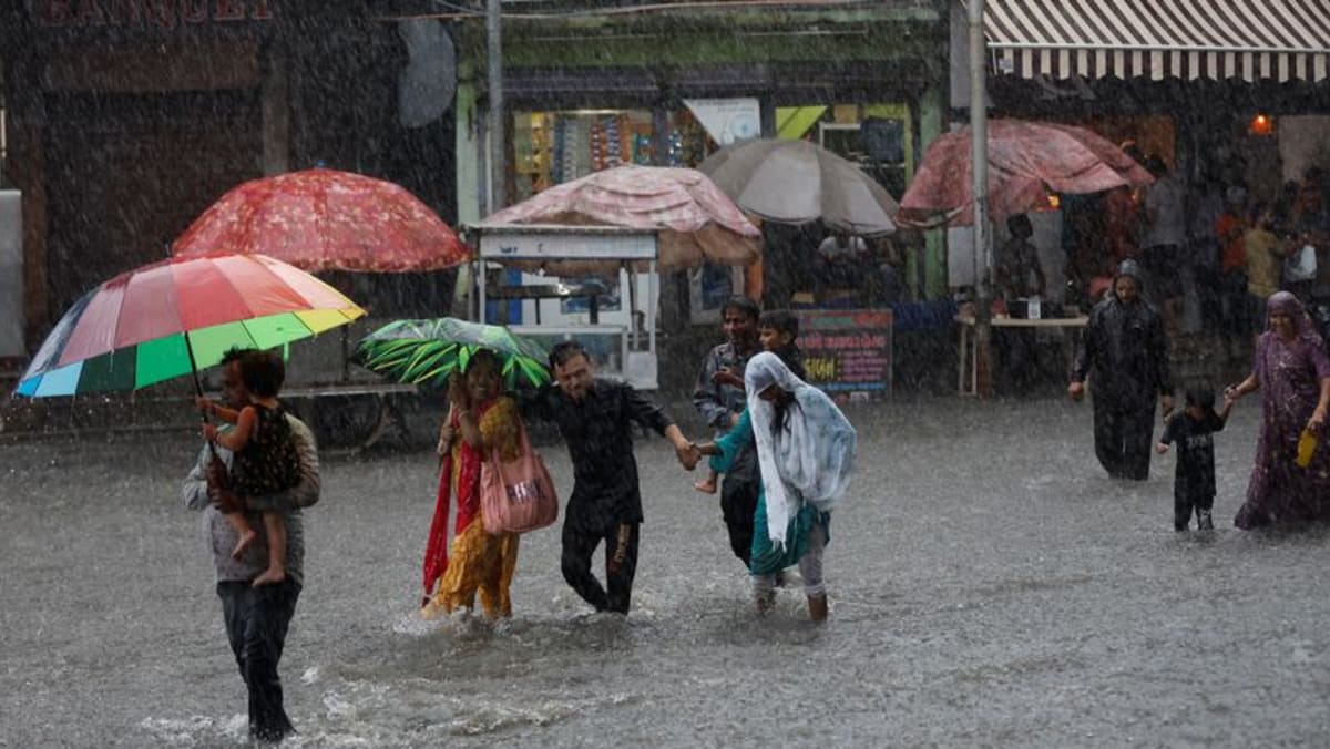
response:
[[[1217,436],[1213,533],[1172,529],[1172,455],[1108,479],[1088,404],[886,403],[831,525],[831,617],[758,619],[717,499],[638,446],[630,616],[523,539],[516,617],[420,623],[435,460],[330,456],[282,674],[286,746],[1323,746],[1327,532],[1232,528],[1256,402]],[[243,686],[190,435],[0,446],[0,746],[233,746]],[[544,448],[567,487],[561,444]]]

